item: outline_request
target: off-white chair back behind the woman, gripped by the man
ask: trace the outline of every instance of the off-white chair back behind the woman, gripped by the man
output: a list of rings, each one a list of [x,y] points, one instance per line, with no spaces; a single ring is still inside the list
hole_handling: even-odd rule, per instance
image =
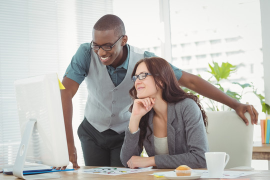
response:
[[[245,125],[234,110],[207,111],[206,114],[209,151],[222,151],[229,154],[229,161],[225,168],[251,167],[253,125],[249,113],[244,113],[249,121],[248,125]]]

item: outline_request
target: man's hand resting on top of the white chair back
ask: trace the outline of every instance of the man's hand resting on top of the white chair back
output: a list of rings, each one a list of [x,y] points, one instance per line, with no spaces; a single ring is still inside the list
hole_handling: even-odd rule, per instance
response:
[[[243,119],[246,125],[248,125],[248,120],[244,116],[245,112],[248,112],[250,114],[250,119],[252,124],[257,124],[258,122],[258,112],[251,104],[243,104],[238,103],[237,106],[234,108],[236,113]]]

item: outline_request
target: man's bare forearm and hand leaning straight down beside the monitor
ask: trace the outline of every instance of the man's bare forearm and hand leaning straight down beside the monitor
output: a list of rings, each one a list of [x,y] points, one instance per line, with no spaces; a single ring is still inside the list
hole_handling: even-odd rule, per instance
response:
[[[66,76],[62,80],[62,84],[65,87],[65,89],[61,90],[61,99],[66,132],[66,141],[68,147],[68,156],[69,161],[72,162],[73,164],[73,168],[76,169],[79,168],[80,166],[77,164],[77,152],[74,144],[74,137],[72,130],[72,97],[77,92],[79,84]],[[66,166],[63,167],[62,169],[65,168]]]

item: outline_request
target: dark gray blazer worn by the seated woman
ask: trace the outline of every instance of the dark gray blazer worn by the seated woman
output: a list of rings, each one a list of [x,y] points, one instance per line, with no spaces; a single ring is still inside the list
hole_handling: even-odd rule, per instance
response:
[[[206,168],[204,152],[208,151],[208,141],[202,115],[197,104],[190,98],[167,107],[167,142],[169,154],[155,155],[153,133],[147,129],[143,146],[148,156],[154,156],[157,168],[176,168],[185,164],[191,168]],[[153,131],[153,109],[149,111],[149,126]],[[124,142],[120,152],[122,164],[132,155],[140,155],[138,147],[139,131],[131,134],[126,128]]]

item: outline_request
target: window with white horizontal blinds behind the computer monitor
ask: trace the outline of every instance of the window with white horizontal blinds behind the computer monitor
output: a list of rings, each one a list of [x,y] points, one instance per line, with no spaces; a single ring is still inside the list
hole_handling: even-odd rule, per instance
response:
[[[49,72],[61,80],[78,45],[91,41],[93,23],[105,13],[112,13],[111,0],[1,1],[0,167],[14,163],[20,143],[13,81]],[[85,94],[82,84],[73,99],[75,137]],[[83,165],[79,141],[76,148]]]

